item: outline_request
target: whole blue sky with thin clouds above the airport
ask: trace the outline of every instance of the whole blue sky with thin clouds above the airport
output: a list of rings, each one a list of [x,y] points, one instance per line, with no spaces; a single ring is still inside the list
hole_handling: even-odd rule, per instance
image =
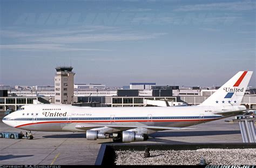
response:
[[[0,85],[221,86],[254,71],[255,1],[0,1]]]

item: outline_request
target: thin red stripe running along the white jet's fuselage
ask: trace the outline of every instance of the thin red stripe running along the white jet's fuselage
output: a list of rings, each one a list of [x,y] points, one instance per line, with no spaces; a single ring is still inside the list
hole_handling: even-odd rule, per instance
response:
[[[210,118],[210,119],[205,119],[205,118],[202,118],[202,119],[196,119],[196,120],[125,120],[125,121],[116,121],[116,122],[181,122],[181,121],[185,121],[185,122],[188,122],[188,121],[211,121],[211,120],[218,120],[220,118]],[[45,122],[37,122],[37,123],[28,123],[28,124],[22,124],[22,125],[18,125],[16,126],[15,128],[19,128],[19,127],[24,127],[24,126],[27,126],[27,125],[33,125],[33,124],[46,124],[46,123],[63,123],[63,124],[69,124],[69,123],[96,123],[96,122],[111,122],[111,121],[106,121],[106,120],[103,120],[103,121],[45,121]],[[112,123],[116,123],[116,122],[113,122]]]

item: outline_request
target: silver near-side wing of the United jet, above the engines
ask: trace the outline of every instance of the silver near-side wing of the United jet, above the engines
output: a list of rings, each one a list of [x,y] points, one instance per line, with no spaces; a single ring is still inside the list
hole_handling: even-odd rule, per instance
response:
[[[77,129],[81,130],[98,130],[101,132],[118,132],[131,129],[149,129],[153,131],[163,131],[163,130],[191,130],[194,128],[179,128],[179,127],[155,127],[147,125],[115,125],[115,124],[87,124],[78,123],[76,125]]]

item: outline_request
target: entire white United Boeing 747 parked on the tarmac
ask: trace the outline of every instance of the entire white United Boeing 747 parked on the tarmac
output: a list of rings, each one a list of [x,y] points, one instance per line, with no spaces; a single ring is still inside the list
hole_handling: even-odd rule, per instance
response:
[[[198,106],[91,108],[31,104],[5,116],[3,122],[28,131],[86,132],[88,140],[145,141],[156,131],[187,129],[184,127],[244,112],[246,107],[240,103],[252,73],[238,72]]]

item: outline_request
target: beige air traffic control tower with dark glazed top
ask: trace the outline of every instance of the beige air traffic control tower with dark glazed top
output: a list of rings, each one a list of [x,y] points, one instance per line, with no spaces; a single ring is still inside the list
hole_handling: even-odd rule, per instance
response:
[[[55,103],[72,104],[74,96],[74,76],[71,66],[58,66],[55,68]]]

